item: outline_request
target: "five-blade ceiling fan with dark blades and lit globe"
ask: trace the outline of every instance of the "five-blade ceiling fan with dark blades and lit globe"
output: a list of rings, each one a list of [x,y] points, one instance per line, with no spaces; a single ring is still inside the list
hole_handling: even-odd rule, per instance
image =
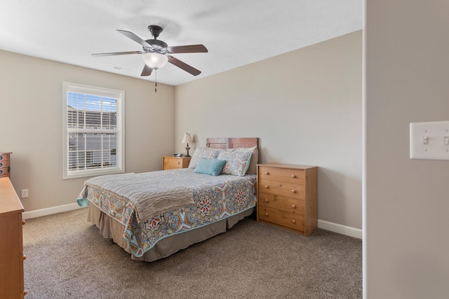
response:
[[[157,25],[149,25],[149,32],[152,33],[154,39],[147,39],[144,41],[140,39],[139,36],[133,34],[133,32],[128,32],[125,30],[119,30],[118,32],[132,39],[136,43],[140,43],[142,46],[141,51],[128,51],[128,52],[115,52],[115,53],[96,53],[93,56],[110,56],[110,55],[127,55],[127,54],[143,54],[143,60],[145,61],[145,67],[142,70],[140,76],[149,76],[152,74],[153,69],[160,69],[164,67],[167,62],[187,71],[188,73],[198,76],[201,71],[189,66],[185,62],[178,60],[177,58],[171,56],[170,54],[177,53],[207,53],[208,49],[203,45],[187,45],[187,46],[171,46],[169,47],[163,41],[157,39],[159,34],[162,32],[162,27]]]

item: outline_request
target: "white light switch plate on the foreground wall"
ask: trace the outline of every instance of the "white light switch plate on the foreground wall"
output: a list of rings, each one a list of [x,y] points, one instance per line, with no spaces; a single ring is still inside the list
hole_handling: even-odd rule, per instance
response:
[[[449,121],[410,123],[410,159],[449,160]]]

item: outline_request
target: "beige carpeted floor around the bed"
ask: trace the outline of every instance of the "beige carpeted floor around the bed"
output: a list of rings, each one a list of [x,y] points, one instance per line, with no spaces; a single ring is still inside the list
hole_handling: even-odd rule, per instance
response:
[[[361,239],[257,223],[152,263],[86,221],[87,209],[27,220],[25,298],[362,298]]]

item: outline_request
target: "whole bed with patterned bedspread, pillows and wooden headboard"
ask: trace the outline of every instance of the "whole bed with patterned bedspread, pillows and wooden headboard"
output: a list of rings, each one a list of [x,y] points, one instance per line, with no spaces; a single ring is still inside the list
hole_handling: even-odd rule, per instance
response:
[[[88,204],[88,221],[103,237],[133,260],[151,262],[253,214],[257,159],[257,138],[208,138],[206,148],[192,155],[189,168],[92,178],[78,202]],[[201,171],[201,165],[218,160],[227,161],[219,175]]]

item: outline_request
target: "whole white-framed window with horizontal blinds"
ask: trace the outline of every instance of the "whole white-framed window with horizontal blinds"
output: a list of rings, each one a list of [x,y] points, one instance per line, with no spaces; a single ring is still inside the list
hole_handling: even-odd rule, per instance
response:
[[[63,83],[64,179],[125,171],[123,90]]]

